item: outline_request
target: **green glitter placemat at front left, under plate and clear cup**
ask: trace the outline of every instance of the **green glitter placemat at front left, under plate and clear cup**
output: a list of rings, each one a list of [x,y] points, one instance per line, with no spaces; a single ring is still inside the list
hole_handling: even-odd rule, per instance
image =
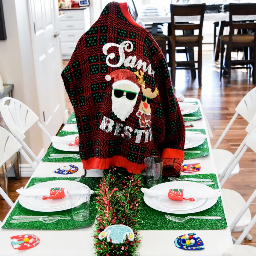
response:
[[[74,180],[76,178],[32,178],[28,187],[31,187],[35,184],[35,182],[44,182],[44,181],[52,181],[52,180]],[[100,178],[88,177],[88,178],[81,178],[79,182],[84,183],[90,187],[90,189],[95,190]],[[32,210],[28,210],[24,208],[18,202],[15,207],[13,208],[11,214],[7,218],[5,224],[2,228],[6,229],[39,229],[39,230],[71,230],[77,228],[85,228],[91,226],[97,214],[96,202],[95,202],[95,194],[92,194],[90,197],[90,216],[87,220],[84,221],[75,221],[72,218],[71,209],[58,211],[58,212],[36,212]],[[70,220],[57,220],[52,223],[44,223],[42,221],[35,221],[35,222],[23,222],[23,223],[10,223],[13,216],[16,215],[32,215],[32,216],[44,216],[44,215],[65,215],[71,217]]]

